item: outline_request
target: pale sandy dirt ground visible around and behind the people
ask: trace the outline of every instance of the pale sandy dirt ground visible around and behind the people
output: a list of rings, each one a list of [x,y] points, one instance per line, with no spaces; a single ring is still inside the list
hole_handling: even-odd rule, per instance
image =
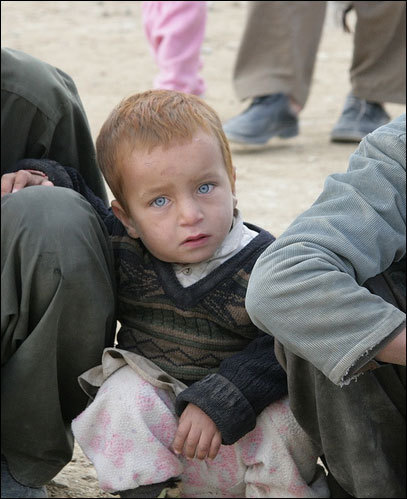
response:
[[[206,100],[223,121],[247,106],[234,93],[232,71],[245,22],[246,3],[208,2],[203,44]],[[350,89],[352,35],[328,2],[313,86],[300,116],[300,135],[275,139],[264,150],[233,151],[239,207],[247,221],[280,235],[322,189],[345,171],[353,144],[332,144],[329,133]],[[123,97],[151,87],[156,67],[135,1],[3,1],[1,43],[30,53],[70,74],[96,137]],[[351,16],[350,25],[354,25]],[[404,107],[386,105],[391,117]],[[79,448],[49,486],[51,497],[114,497],[100,491],[95,471]],[[116,496],[117,497],[117,496]]]

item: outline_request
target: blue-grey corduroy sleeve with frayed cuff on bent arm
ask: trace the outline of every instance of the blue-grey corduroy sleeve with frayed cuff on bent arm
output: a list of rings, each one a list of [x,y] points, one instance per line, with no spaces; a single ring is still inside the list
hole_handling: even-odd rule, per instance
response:
[[[253,322],[335,384],[349,382],[405,320],[362,287],[405,257],[405,183],[403,115],[362,141],[348,171],[327,178],[251,274]]]

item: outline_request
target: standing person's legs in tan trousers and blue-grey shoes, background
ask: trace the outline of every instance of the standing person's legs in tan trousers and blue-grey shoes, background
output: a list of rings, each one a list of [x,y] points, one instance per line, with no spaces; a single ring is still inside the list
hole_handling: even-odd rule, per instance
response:
[[[248,2],[233,82],[239,99],[252,102],[225,123],[231,142],[262,145],[272,137],[298,135],[298,116],[310,91],[326,3]],[[331,140],[359,142],[389,121],[384,102],[406,102],[406,4],[346,3],[345,13],[353,8],[357,16],[351,92]]]

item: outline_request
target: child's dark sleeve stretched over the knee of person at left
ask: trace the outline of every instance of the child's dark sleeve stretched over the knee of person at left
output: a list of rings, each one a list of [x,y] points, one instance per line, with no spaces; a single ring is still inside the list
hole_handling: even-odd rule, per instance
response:
[[[36,170],[45,173],[54,186],[73,189],[81,194],[93,206],[105,223],[107,219],[111,218],[111,209],[107,208],[104,201],[86,185],[82,175],[76,168],[62,166],[50,159],[28,158],[18,161],[10,171],[17,172],[18,170]]]

